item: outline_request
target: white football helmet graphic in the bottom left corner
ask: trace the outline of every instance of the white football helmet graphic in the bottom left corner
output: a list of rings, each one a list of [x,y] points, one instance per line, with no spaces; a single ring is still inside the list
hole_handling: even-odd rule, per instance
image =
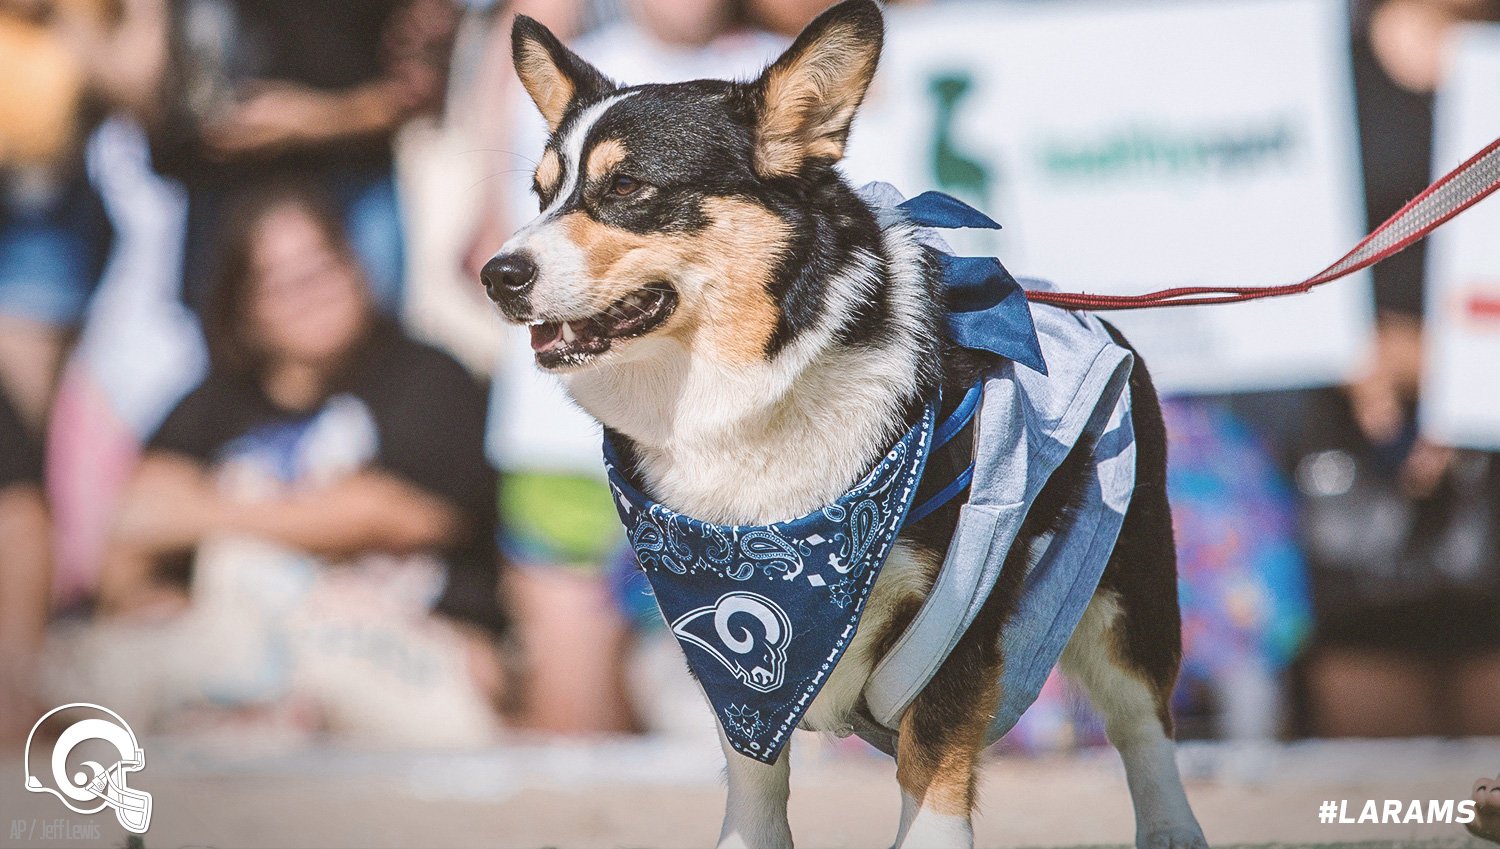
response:
[[[120,714],[75,702],[52,708],[26,740],[26,789],[52,794],[68,810],[114,808],[126,831],[146,834],[152,794],[126,784],[126,772],[146,766],[146,753]]]

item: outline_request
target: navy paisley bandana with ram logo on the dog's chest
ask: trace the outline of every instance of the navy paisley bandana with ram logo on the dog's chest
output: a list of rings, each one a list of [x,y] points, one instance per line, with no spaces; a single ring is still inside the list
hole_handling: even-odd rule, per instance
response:
[[[832,504],[774,525],[711,525],[652,502],[604,441],[604,470],[662,616],[735,752],[774,764],[854,639],[932,452],[928,404]]]

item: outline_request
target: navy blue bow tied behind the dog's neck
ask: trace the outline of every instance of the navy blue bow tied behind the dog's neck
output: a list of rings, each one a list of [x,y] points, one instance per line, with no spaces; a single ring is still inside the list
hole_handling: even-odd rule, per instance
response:
[[[898,210],[921,225],[939,230],[999,230],[990,216],[942,192],[922,192],[897,204]],[[1047,362],[1032,324],[1026,290],[994,256],[954,256],[939,254],[944,285],[948,290],[948,333],[964,348],[1008,357],[1038,374]]]

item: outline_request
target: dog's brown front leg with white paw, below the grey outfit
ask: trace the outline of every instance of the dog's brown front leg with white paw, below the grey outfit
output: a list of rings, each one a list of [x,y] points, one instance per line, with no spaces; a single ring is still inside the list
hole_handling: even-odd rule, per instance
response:
[[[996,640],[960,642],[902,717],[898,849],[969,849],[976,766],[999,682]]]

